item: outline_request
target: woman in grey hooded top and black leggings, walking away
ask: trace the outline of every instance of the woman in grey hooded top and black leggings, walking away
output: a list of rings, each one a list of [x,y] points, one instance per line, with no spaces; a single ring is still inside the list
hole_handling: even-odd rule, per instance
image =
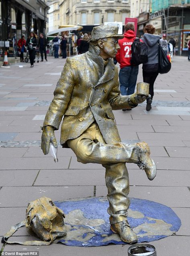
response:
[[[158,41],[160,36],[154,35],[155,28],[150,24],[144,27],[144,33],[142,41],[148,47],[148,62],[143,64],[143,82],[149,83],[151,97],[147,98],[146,111],[150,111],[154,96],[154,82],[158,75]]]

